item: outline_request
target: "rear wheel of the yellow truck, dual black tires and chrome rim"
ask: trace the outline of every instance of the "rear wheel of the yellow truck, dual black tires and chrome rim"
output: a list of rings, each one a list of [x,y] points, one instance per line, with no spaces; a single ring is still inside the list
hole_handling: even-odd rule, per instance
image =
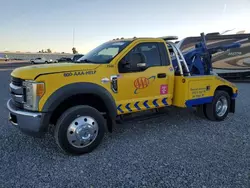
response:
[[[223,121],[230,109],[230,96],[226,91],[215,92],[212,103],[205,105],[205,114],[209,120]]]

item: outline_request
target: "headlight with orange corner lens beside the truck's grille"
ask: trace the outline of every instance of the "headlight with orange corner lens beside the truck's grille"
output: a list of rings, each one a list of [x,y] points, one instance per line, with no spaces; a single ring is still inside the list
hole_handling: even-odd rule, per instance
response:
[[[45,93],[45,85],[42,82],[26,80],[23,82],[26,100],[24,108],[27,110],[38,111],[39,101]]]

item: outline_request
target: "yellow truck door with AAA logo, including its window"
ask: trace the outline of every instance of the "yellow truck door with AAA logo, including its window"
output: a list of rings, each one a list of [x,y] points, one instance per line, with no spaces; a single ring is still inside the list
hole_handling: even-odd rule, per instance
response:
[[[146,67],[141,69],[133,65],[133,60],[130,59],[133,53],[140,53],[145,57]],[[119,62],[118,72],[118,114],[172,104],[174,71],[165,43],[137,44]]]

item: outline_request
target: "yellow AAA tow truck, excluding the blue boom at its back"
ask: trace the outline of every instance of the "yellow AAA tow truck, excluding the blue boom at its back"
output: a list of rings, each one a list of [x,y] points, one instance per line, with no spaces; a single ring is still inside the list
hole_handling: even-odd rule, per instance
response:
[[[192,75],[175,43],[161,37],[111,40],[77,62],[17,68],[10,94],[14,126],[38,137],[52,132],[62,151],[84,154],[129,114],[176,106],[222,121],[235,112],[238,90],[212,72]]]

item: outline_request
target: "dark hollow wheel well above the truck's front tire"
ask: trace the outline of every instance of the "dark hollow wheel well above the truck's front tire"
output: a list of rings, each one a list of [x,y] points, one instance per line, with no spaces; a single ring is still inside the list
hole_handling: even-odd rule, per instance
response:
[[[63,112],[76,105],[89,105],[96,108],[100,113],[103,113],[104,118],[109,118],[108,108],[99,96],[93,94],[77,94],[67,98],[56,107],[50,117],[50,124],[55,125]],[[112,125],[108,124],[108,126]],[[110,128],[111,127],[108,127],[109,130]]]

